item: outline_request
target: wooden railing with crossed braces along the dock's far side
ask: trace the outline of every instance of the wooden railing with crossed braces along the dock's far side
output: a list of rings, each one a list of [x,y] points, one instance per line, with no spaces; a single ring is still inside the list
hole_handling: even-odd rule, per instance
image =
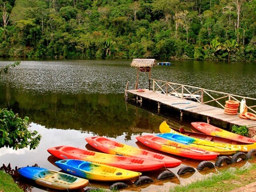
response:
[[[234,94],[213,91],[189,85],[156,80],[152,78],[151,80],[153,82],[154,92],[161,92],[162,94],[173,95],[182,99],[192,99],[196,102],[200,102],[201,104],[208,104],[221,108],[225,108],[224,105],[226,100],[235,100],[241,103],[241,100],[245,99],[248,111],[250,110],[251,112],[256,113],[256,111],[254,110],[254,108],[256,107],[255,98],[238,96]]]

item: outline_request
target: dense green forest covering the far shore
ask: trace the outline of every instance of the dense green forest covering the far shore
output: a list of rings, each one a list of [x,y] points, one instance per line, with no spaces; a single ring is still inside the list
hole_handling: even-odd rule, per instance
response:
[[[0,58],[256,61],[255,0],[0,0]]]

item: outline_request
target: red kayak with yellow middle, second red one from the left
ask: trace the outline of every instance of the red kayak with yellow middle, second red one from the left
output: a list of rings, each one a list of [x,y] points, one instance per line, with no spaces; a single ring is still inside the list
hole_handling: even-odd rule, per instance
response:
[[[181,161],[178,159],[122,144],[106,137],[94,136],[87,137],[85,140],[94,148],[108,154],[154,160],[164,163],[165,167],[169,168],[177,167],[181,164]]]

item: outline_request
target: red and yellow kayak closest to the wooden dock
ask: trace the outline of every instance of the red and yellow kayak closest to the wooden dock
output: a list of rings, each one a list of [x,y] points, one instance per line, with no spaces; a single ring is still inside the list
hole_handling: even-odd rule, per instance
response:
[[[192,122],[191,124],[198,131],[203,132],[208,135],[228,138],[228,139],[232,139],[232,140],[240,141],[240,142],[244,142],[244,143],[255,143],[256,142],[256,140],[254,140],[252,138],[248,138],[248,137],[245,137],[245,136],[242,136],[239,134],[235,134],[235,133],[220,129],[220,128],[210,125],[208,123]]]

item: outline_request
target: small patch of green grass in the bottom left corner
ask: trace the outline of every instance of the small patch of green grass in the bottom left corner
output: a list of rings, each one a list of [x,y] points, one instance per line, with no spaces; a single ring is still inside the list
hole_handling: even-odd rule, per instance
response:
[[[23,192],[12,179],[12,176],[0,171],[0,192]]]

